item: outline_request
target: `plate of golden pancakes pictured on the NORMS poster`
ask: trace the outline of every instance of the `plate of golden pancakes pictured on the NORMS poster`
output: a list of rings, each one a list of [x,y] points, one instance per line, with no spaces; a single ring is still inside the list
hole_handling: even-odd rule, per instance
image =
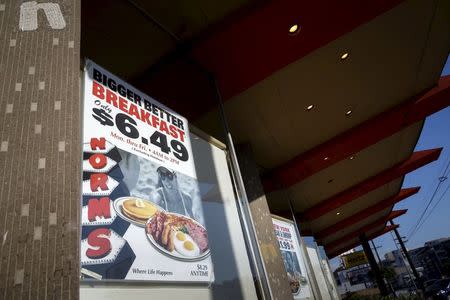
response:
[[[159,205],[138,197],[120,197],[114,201],[114,210],[124,220],[145,227],[147,220],[157,212],[164,211]]]

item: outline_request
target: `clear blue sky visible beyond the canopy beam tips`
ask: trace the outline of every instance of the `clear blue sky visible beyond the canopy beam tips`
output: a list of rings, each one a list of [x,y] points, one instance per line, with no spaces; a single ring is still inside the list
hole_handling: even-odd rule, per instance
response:
[[[450,75],[450,56],[447,58],[442,75]],[[450,175],[437,190],[428,212],[425,214],[423,225],[415,234],[408,235],[430,201],[439,183],[439,177],[443,175],[443,171],[450,161],[450,107],[429,116],[425,120],[415,151],[439,147],[443,147],[443,150],[437,161],[405,176],[402,187],[420,186],[420,191],[397,203],[394,208],[395,210],[408,209],[406,214],[394,220],[396,224],[400,225],[398,229],[400,235],[407,239],[406,247],[408,249],[421,247],[429,240],[450,237]],[[447,172],[449,171],[450,168]],[[397,249],[390,233],[376,238],[374,243],[378,248],[381,259],[384,258],[384,253]],[[339,260],[333,259],[331,263],[334,269],[339,265]]]

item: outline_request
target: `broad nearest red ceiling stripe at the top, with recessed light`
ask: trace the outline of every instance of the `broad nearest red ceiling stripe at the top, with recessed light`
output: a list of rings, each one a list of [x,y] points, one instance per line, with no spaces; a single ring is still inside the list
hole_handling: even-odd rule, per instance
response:
[[[216,75],[226,100],[401,2],[270,1],[222,26],[195,45],[193,54]],[[290,36],[294,23],[301,30]]]

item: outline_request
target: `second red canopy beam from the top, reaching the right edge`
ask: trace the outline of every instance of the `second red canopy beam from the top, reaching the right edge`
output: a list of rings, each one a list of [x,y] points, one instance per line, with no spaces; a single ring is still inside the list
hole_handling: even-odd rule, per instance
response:
[[[450,75],[437,86],[298,155],[264,177],[266,192],[289,187],[450,105]],[[325,160],[324,158],[327,157]]]

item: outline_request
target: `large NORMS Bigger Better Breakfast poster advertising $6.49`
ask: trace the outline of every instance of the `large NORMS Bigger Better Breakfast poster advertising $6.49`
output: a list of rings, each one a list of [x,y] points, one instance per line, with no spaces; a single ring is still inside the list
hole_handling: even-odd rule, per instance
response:
[[[187,120],[89,60],[82,164],[84,280],[213,280]]]

